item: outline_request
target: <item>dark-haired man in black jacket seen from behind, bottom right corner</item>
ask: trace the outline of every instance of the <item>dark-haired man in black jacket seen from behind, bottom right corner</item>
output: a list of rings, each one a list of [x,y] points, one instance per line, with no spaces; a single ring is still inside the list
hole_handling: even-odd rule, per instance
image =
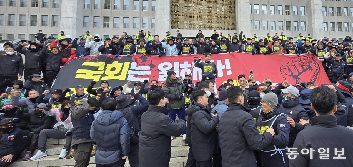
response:
[[[312,90],[310,101],[316,117],[311,126],[298,133],[291,152],[299,154],[289,155],[289,166],[353,166],[353,161],[347,159],[353,157],[353,131],[336,123],[333,116],[337,103],[335,92],[319,86]],[[310,153],[304,154],[303,149],[310,150]],[[322,153],[327,153],[328,159],[320,158],[324,155]],[[346,159],[337,159],[343,154]]]

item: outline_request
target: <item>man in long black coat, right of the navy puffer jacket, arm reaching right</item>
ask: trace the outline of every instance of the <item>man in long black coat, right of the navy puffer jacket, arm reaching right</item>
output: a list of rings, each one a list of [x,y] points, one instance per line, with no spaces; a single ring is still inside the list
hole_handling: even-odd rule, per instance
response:
[[[150,106],[141,118],[139,137],[139,166],[169,166],[171,144],[170,136],[180,136],[185,129],[185,121],[174,122],[165,108],[167,98],[164,91],[157,89],[149,96]]]

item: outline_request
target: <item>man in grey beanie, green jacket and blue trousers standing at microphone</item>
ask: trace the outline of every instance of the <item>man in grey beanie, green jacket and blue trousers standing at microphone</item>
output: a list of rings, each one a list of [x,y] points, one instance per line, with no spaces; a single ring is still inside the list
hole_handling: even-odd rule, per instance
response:
[[[178,118],[185,121],[185,101],[184,101],[184,89],[185,84],[177,78],[177,74],[174,71],[167,72],[166,84],[164,84],[162,90],[165,93],[165,97],[169,99],[168,108],[169,117],[175,121],[175,117],[178,114]],[[183,91],[184,90],[184,91]],[[186,128],[183,131],[183,140],[186,137]],[[172,136],[170,140],[175,139],[175,136]]]

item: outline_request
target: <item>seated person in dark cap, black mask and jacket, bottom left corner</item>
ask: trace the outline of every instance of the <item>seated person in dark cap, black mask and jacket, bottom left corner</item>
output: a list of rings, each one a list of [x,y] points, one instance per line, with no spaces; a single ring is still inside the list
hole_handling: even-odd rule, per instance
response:
[[[17,161],[23,150],[29,145],[28,135],[16,127],[18,119],[6,118],[0,121],[0,166],[10,166]]]

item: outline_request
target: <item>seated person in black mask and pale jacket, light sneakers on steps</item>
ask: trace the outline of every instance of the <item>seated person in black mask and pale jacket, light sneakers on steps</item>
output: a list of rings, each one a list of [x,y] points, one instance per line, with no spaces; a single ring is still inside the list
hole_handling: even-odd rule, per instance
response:
[[[64,148],[60,152],[59,159],[66,157],[66,155],[68,154],[68,150],[70,150],[71,140],[72,140],[70,104],[73,104],[73,102],[66,100],[62,103],[62,106],[60,108],[54,108],[54,109],[50,109],[52,107],[50,103],[46,104],[46,106],[44,107],[44,114],[50,117],[54,117],[56,120],[55,121],[56,123],[54,124],[53,129],[43,129],[39,133],[38,152],[36,153],[36,155],[32,156],[30,160],[37,160],[45,156],[48,156],[48,153],[46,150],[46,143],[48,138],[52,138],[52,139],[66,138],[66,143],[64,145]]]

